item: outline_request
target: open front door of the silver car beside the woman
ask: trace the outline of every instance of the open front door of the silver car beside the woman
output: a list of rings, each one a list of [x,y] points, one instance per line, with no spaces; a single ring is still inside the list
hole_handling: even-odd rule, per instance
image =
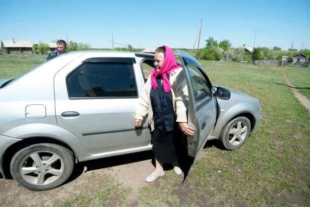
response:
[[[195,134],[187,137],[188,154],[195,162],[214,129],[217,102],[212,84],[199,62],[185,52],[178,52],[189,90],[188,125],[195,129]]]

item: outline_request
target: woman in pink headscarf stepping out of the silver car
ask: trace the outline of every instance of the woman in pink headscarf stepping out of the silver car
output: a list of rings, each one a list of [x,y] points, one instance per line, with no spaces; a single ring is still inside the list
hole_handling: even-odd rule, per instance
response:
[[[173,51],[167,46],[157,48],[154,66],[134,117],[134,126],[138,127],[148,114],[153,131],[156,169],[146,177],[146,182],[165,175],[163,163],[173,163],[175,172],[182,174],[176,154],[176,143],[181,142],[180,129],[186,136],[194,135],[194,129],[187,124],[188,89]]]

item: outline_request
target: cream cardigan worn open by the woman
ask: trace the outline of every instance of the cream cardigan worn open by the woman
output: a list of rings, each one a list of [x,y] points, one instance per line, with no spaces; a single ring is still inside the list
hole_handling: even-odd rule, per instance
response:
[[[188,88],[182,70],[182,67],[174,70],[169,79],[177,122],[187,122]],[[149,75],[143,87],[142,95],[139,98],[139,104],[134,118],[143,120],[143,118],[148,114],[148,123],[151,126],[151,131],[153,131],[154,119],[149,95],[150,89],[151,84]]]

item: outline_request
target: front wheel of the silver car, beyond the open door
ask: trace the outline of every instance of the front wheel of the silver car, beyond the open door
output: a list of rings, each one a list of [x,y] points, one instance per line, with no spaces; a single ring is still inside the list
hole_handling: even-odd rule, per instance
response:
[[[251,131],[251,122],[244,116],[238,116],[222,129],[219,141],[225,149],[239,149],[247,140]]]

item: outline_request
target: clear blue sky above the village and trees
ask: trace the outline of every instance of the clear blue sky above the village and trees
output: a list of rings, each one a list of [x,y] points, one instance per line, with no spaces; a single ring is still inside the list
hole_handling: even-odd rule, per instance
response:
[[[0,8],[0,40],[34,44],[66,41],[68,34],[69,41],[112,48],[113,29],[115,43],[133,48],[193,48],[204,19],[200,48],[211,36],[228,39],[233,47],[253,47],[255,31],[260,31],[255,47],[287,50],[294,41],[293,48],[299,50],[304,44],[303,48],[310,49],[310,0],[2,0]]]

